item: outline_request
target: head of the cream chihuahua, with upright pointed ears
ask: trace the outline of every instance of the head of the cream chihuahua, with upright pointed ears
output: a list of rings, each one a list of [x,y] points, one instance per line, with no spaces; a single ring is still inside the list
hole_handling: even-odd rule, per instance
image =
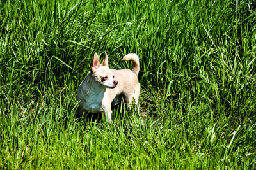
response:
[[[99,55],[94,53],[93,63],[91,67],[92,79],[108,88],[115,88],[118,81],[115,80],[115,75],[112,73],[111,69],[108,67],[108,55],[105,52],[105,59],[100,64]]]

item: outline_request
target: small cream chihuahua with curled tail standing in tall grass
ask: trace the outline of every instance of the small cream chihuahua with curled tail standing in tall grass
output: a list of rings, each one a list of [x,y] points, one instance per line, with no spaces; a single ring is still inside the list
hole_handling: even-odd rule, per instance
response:
[[[108,55],[100,64],[99,55],[94,54],[91,70],[88,76],[82,81],[77,90],[79,113],[104,113],[111,122],[111,104],[116,105],[124,97],[128,108],[131,104],[138,104],[140,96],[140,83],[138,73],[140,62],[138,55],[129,53],[124,56],[124,61],[132,61],[132,69],[109,69]]]

